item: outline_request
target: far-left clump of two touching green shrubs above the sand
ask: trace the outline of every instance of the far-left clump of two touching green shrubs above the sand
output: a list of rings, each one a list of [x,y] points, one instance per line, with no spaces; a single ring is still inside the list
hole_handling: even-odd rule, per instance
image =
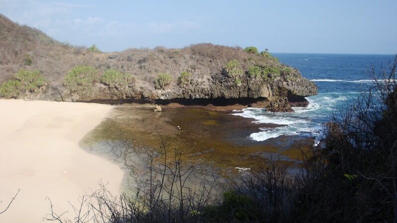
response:
[[[47,80],[39,71],[19,70],[15,80],[8,80],[0,85],[0,96],[16,98],[25,92],[35,93],[47,85]]]

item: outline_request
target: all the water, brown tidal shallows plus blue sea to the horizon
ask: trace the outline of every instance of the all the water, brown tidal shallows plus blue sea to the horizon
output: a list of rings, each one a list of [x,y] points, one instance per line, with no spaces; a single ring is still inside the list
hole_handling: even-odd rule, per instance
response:
[[[88,152],[106,157],[125,171],[123,187],[132,191],[150,178],[149,167],[179,156],[185,167],[195,166],[188,185],[205,178],[228,178],[279,158],[291,170],[298,168],[301,150],[321,134],[331,115],[348,107],[360,89],[370,83],[368,61],[380,64],[393,56],[277,54],[284,63],[298,67],[319,87],[319,95],[307,97],[309,106],[293,107],[293,113],[271,113],[247,108],[234,112],[202,107],[120,105],[81,142]],[[179,130],[178,127],[181,127]],[[163,142],[166,154],[162,148]]]

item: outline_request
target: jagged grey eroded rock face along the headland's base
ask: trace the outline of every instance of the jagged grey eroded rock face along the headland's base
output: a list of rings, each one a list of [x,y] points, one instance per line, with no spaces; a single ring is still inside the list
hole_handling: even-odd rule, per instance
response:
[[[271,112],[291,112],[291,106],[305,107],[309,102],[306,96],[316,95],[317,86],[303,78],[298,70],[292,75],[281,75],[273,79],[263,79],[244,74],[241,83],[220,73],[212,74],[207,83],[192,80],[189,86],[174,87],[165,90],[152,90],[131,85],[127,89],[104,88],[95,86],[92,95],[77,95],[73,100],[97,102],[147,102],[147,103],[186,103],[199,101],[201,104],[247,104],[253,107],[265,107]],[[126,101],[127,100],[127,101]],[[160,102],[159,102],[160,101]]]

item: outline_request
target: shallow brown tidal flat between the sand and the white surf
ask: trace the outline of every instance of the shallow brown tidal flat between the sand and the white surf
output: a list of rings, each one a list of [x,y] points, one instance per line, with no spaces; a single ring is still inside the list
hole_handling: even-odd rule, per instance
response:
[[[230,178],[238,168],[258,168],[270,158],[293,168],[305,145],[297,136],[279,136],[255,141],[250,134],[259,128],[279,125],[256,124],[254,120],[201,107],[163,107],[154,112],[150,105],[119,105],[81,141],[88,152],[119,164],[125,171],[123,188],[139,186],[150,178],[150,164],[172,165],[181,158],[185,168],[195,171],[188,185],[203,178]],[[178,128],[180,127],[180,129]]]

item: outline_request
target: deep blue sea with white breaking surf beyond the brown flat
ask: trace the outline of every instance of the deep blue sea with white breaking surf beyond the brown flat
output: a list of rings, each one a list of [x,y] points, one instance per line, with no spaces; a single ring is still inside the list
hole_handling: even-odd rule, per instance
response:
[[[379,70],[387,66],[394,55],[358,54],[304,54],[273,53],[280,62],[296,67],[303,77],[318,86],[318,95],[307,97],[309,106],[293,107],[293,113],[271,113],[264,109],[248,108],[236,115],[254,118],[257,123],[285,124],[275,129],[260,129],[251,138],[263,141],[279,135],[302,135],[309,132],[320,134],[324,123],[333,114],[348,108],[357,98],[360,90],[365,91],[372,84],[369,76],[371,66]]]

